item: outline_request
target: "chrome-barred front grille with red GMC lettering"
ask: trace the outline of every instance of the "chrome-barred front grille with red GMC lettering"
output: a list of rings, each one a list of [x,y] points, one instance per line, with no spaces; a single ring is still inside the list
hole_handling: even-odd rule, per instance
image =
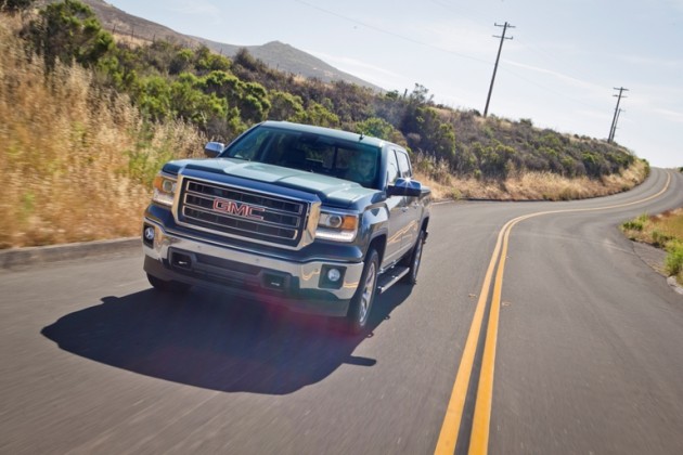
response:
[[[221,235],[296,246],[308,204],[216,183],[183,180],[179,221]]]

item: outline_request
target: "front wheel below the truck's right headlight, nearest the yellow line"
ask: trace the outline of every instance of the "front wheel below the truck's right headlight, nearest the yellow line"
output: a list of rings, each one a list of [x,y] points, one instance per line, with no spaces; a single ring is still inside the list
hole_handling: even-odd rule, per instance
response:
[[[345,332],[350,335],[360,334],[368,327],[370,310],[377,294],[377,275],[379,272],[379,255],[374,249],[365,256],[365,266],[361,274],[360,285],[351,299],[349,312],[345,320]]]

